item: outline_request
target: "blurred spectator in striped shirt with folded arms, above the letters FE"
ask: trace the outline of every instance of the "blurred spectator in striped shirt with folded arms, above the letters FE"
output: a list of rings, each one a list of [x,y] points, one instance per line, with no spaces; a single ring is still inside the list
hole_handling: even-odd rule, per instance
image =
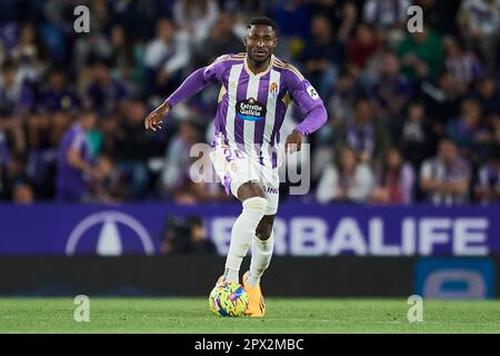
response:
[[[429,202],[460,205],[469,199],[470,178],[469,164],[459,156],[457,145],[443,138],[439,141],[438,155],[422,165],[420,187]]]

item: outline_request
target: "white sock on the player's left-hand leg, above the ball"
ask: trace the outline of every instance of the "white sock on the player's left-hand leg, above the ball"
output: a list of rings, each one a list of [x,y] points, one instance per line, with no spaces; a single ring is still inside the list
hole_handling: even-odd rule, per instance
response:
[[[250,241],[256,236],[256,229],[266,214],[268,200],[253,197],[243,201],[243,211],[236,220],[231,230],[231,244],[226,259],[224,277],[229,281],[239,283],[239,271],[243,257],[247,256]]]

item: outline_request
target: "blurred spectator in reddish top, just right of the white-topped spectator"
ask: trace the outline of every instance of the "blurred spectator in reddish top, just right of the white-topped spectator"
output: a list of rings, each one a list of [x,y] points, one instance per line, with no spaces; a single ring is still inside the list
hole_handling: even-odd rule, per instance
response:
[[[378,204],[411,204],[413,201],[414,171],[403,161],[401,151],[391,148],[383,166],[377,169],[377,188],[371,197]]]

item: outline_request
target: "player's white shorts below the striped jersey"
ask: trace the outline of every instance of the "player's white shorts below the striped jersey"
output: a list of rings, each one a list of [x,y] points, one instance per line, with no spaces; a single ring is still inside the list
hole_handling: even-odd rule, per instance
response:
[[[258,181],[268,199],[266,215],[278,212],[280,178],[278,168],[271,168],[259,164],[258,159],[229,146],[216,146],[210,158],[217,176],[226,187],[226,192],[238,198],[238,189],[247,181]]]

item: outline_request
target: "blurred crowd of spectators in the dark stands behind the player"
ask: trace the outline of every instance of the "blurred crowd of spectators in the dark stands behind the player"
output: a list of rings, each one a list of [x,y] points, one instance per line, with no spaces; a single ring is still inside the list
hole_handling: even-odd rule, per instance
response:
[[[74,32],[79,4],[89,33]],[[407,30],[412,4],[421,32]],[[189,179],[219,88],[176,107],[161,131],[143,118],[194,69],[244,51],[259,14],[329,110],[308,138],[311,192],[283,200],[499,200],[498,0],[2,0],[0,200],[230,199]]]

